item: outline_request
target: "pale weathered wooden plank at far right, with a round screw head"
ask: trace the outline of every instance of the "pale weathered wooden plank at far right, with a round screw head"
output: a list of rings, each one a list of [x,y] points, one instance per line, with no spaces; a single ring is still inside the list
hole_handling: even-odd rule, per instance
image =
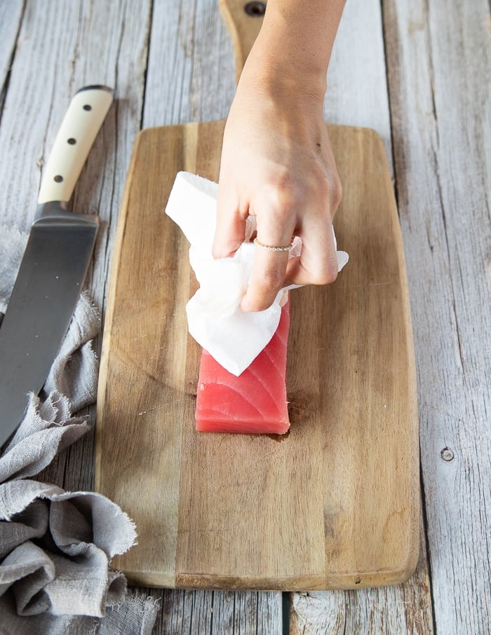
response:
[[[386,1],[435,623],[491,621],[490,8]]]

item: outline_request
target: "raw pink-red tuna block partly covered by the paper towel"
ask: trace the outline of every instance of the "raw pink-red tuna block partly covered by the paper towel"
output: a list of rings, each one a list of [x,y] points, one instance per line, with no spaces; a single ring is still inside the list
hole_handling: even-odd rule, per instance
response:
[[[238,377],[203,350],[196,395],[196,430],[283,435],[290,428],[286,401],[286,347],[290,302],[271,341]]]

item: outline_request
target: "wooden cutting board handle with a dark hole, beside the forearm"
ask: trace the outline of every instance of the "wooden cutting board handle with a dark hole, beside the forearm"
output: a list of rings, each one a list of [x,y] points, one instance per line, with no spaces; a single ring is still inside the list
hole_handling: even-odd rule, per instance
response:
[[[238,82],[245,60],[260,32],[266,2],[218,0],[218,6],[234,47],[236,81]]]

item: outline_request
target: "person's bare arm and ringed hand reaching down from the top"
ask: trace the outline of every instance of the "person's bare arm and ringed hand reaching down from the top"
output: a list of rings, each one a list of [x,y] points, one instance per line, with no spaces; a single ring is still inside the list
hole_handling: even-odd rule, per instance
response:
[[[326,75],[344,1],[269,0],[231,105],[222,146],[213,257],[231,256],[257,221],[257,239],[300,257],[255,247],[241,301],[264,310],[281,287],[335,280],[332,217],[342,188],[323,121]],[[300,18],[301,16],[301,18]]]

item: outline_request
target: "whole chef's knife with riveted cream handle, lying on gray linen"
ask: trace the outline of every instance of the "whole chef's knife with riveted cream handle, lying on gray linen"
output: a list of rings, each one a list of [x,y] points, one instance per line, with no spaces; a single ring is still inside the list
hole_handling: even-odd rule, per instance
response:
[[[79,298],[98,218],[68,209],[113,91],[76,93],[55,138],[39,190],[36,219],[0,327],[0,446],[22,421],[55,360]]]

